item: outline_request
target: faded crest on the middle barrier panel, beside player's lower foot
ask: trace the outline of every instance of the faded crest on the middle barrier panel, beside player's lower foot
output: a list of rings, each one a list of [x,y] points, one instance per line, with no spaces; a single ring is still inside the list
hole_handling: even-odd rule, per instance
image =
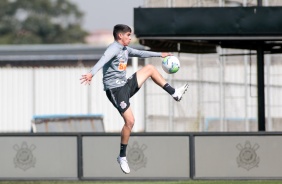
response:
[[[145,149],[147,149],[145,144],[139,146],[136,141],[133,142],[132,146],[128,145],[127,160],[130,168],[137,171],[142,167],[146,167],[147,158],[144,155]]]

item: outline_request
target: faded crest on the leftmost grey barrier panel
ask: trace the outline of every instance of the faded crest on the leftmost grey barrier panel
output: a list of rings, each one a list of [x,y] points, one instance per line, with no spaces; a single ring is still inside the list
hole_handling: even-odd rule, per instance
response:
[[[32,151],[36,148],[35,145],[28,147],[26,142],[23,142],[21,147],[17,144],[13,146],[14,150],[17,151],[14,157],[15,167],[18,167],[24,171],[34,167],[36,163],[36,158],[33,156]]]

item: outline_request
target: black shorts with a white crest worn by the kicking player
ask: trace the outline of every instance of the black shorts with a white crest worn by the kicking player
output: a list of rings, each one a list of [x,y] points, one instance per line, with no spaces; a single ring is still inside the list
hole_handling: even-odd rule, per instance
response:
[[[136,73],[129,77],[124,86],[108,89],[106,94],[108,99],[122,114],[130,106],[129,99],[139,90]]]

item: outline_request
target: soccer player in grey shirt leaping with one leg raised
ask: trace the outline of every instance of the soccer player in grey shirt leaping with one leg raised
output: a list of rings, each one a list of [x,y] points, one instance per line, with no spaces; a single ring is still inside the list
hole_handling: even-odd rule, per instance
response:
[[[132,109],[130,108],[129,99],[142,87],[142,84],[149,77],[168,92],[176,101],[181,100],[182,95],[188,88],[188,84],[174,89],[165,81],[158,70],[150,64],[144,66],[126,79],[128,57],[164,58],[171,54],[141,51],[128,47],[131,41],[131,28],[127,25],[115,25],[113,36],[115,41],[108,46],[104,55],[96,65],[93,66],[91,71],[82,75],[80,80],[81,84],[89,85],[92,77],[103,68],[103,84],[106,95],[124,119],[124,126],[121,130],[120,153],[117,157],[117,161],[120,164],[121,170],[128,174],[130,173],[130,168],[126,159],[126,146],[135,121]]]

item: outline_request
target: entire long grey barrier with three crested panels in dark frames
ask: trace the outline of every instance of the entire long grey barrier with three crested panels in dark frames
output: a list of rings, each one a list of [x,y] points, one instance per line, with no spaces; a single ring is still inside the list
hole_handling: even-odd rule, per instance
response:
[[[0,180],[282,179],[281,133],[0,134]]]

